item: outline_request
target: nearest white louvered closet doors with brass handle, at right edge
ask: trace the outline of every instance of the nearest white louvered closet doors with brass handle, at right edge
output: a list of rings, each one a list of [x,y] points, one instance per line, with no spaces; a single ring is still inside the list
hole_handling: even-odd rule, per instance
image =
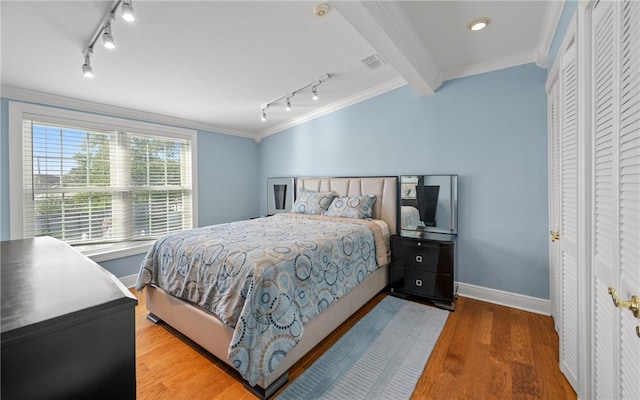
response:
[[[608,288],[640,295],[640,2],[600,1],[592,24],[593,394],[640,399],[640,337]]]

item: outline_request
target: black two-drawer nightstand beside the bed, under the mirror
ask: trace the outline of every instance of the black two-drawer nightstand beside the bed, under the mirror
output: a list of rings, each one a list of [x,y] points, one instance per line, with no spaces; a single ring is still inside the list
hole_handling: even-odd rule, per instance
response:
[[[453,311],[456,258],[456,235],[423,233],[420,238],[392,236],[391,294],[419,296],[440,308]]]

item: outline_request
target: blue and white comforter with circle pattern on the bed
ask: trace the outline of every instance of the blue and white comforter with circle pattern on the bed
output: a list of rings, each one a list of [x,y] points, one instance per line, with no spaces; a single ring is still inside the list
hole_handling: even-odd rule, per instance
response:
[[[157,285],[233,328],[229,360],[254,385],[305,323],[374,272],[377,258],[386,264],[384,239],[373,221],[301,214],[196,228],[158,239],[136,288]]]

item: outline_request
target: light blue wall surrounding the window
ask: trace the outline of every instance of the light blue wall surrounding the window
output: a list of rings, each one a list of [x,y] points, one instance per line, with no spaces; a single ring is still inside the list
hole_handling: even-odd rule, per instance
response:
[[[8,99],[0,103],[0,239],[10,239]],[[198,131],[198,224],[258,215],[258,144],[253,139]],[[265,189],[266,190],[266,189]],[[117,277],[136,274],[143,255],[100,263]]]

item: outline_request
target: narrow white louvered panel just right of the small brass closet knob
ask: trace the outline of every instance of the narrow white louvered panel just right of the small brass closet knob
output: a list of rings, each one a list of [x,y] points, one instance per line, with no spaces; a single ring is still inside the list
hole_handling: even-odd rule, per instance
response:
[[[560,60],[560,369],[578,387],[578,87],[575,46]]]

